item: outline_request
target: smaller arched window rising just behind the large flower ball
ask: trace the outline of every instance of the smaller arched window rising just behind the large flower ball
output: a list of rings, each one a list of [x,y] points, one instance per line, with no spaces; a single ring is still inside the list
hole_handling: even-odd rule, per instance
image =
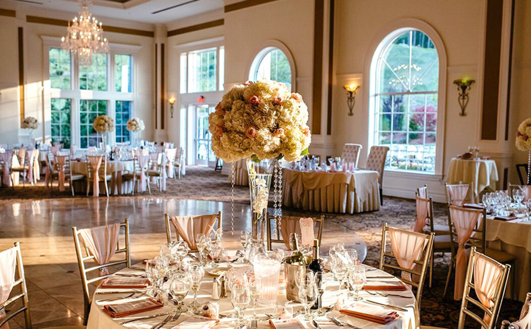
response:
[[[253,60],[249,80],[260,79],[284,82],[292,89],[292,64],[286,54],[277,47],[262,49]]]

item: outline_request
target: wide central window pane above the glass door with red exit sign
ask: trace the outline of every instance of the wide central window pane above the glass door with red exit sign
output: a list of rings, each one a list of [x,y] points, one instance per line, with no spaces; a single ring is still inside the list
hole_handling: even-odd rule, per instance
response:
[[[216,48],[188,55],[188,92],[216,91]]]

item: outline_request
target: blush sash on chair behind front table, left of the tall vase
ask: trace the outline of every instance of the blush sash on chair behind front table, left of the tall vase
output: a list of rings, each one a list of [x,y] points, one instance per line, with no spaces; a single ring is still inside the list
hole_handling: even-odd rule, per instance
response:
[[[195,235],[203,233],[207,235],[216,223],[217,214],[199,216],[170,216],[177,234],[186,241],[188,247],[197,250]]]

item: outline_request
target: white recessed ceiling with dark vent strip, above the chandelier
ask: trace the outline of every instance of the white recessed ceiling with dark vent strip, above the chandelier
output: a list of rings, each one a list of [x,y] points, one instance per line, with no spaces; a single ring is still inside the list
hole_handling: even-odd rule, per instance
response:
[[[17,4],[21,9],[79,11],[76,0],[6,0],[6,3]],[[223,6],[223,0],[93,0],[91,12],[101,18],[157,24],[221,10]]]

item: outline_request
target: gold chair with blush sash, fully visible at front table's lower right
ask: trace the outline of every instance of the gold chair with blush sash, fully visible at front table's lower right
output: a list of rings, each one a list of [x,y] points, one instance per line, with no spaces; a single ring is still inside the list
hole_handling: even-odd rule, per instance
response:
[[[470,249],[468,266],[466,269],[465,287],[461,309],[459,311],[458,329],[465,329],[466,317],[472,318],[483,329],[494,329],[500,313],[503,296],[507,287],[511,266],[496,262],[489,256],[477,252],[475,247]],[[474,290],[474,294],[471,293]],[[474,298],[474,296],[476,296]],[[476,314],[474,309],[483,314]],[[468,326],[469,327],[469,326]],[[442,329],[431,326],[420,326],[420,329]]]

